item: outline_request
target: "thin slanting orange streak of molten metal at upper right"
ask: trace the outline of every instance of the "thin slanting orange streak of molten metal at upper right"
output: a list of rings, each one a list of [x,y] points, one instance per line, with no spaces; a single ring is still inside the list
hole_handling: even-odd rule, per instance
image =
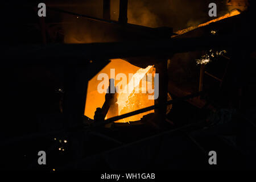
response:
[[[179,30],[179,31],[177,31],[175,33],[178,34],[178,35],[185,34],[186,32],[189,32],[189,31],[194,30],[196,28],[204,27],[204,26],[207,26],[210,23],[218,22],[218,21],[220,21],[222,19],[229,18],[231,16],[236,16],[236,15],[239,15],[239,14],[240,14],[240,12],[238,10],[233,10],[231,13],[228,13],[228,14],[225,14],[224,16],[219,17],[219,18],[210,20],[209,22],[206,22],[206,23],[203,23],[203,24],[199,24],[199,26],[188,27],[188,28],[185,28],[183,30]],[[174,36],[177,36],[177,35],[174,35]],[[172,37],[174,37],[174,36],[172,36]]]

